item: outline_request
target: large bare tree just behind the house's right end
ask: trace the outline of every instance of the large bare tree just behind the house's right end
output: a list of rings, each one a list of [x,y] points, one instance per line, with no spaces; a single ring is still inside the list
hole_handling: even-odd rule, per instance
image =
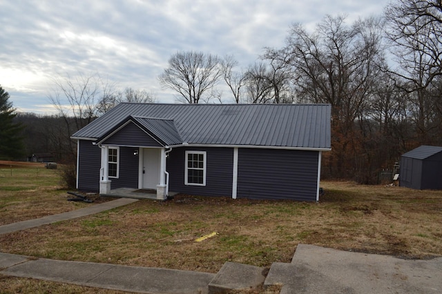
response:
[[[329,173],[354,175],[349,154],[358,153],[361,134],[355,121],[363,117],[383,62],[379,19],[348,26],[345,17],[327,16],[309,33],[300,24],[289,31],[285,47],[267,49],[265,57],[285,64],[299,101],[332,104],[332,153]]]

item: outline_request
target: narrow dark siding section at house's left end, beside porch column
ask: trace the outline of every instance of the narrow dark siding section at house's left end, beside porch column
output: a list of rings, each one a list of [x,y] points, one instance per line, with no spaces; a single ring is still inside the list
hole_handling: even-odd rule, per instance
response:
[[[98,193],[102,150],[92,141],[79,140],[78,144],[78,189]]]

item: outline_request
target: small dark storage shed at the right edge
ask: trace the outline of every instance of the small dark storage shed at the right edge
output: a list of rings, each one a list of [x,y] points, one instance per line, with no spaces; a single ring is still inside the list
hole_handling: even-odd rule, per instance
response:
[[[442,189],[442,147],[419,146],[401,155],[399,186]]]

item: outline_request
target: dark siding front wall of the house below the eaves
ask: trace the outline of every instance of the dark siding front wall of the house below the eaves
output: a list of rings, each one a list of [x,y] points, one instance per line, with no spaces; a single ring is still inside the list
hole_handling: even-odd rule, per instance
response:
[[[186,150],[206,152],[206,186],[184,184]],[[119,147],[119,178],[111,188],[138,188],[139,160],[133,147]],[[316,201],[317,151],[265,148],[238,149],[237,198]],[[101,150],[79,140],[79,190],[99,191]],[[173,148],[166,159],[169,190],[204,196],[231,197],[233,148]]]

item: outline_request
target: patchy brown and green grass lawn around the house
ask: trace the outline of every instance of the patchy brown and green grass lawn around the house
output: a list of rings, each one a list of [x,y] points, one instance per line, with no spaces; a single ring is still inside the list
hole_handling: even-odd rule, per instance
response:
[[[55,170],[39,170],[45,179],[33,176],[33,168],[21,170],[17,177],[28,175],[26,180],[0,169],[0,224],[93,205],[67,202]],[[321,186],[319,203],[191,195],[141,200],[0,235],[0,252],[209,273],[227,261],[267,267],[290,262],[299,243],[403,258],[442,255],[442,191],[350,182]],[[212,232],[218,235],[194,241]],[[2,279],[12,281],[0,277],[0,288]]]

